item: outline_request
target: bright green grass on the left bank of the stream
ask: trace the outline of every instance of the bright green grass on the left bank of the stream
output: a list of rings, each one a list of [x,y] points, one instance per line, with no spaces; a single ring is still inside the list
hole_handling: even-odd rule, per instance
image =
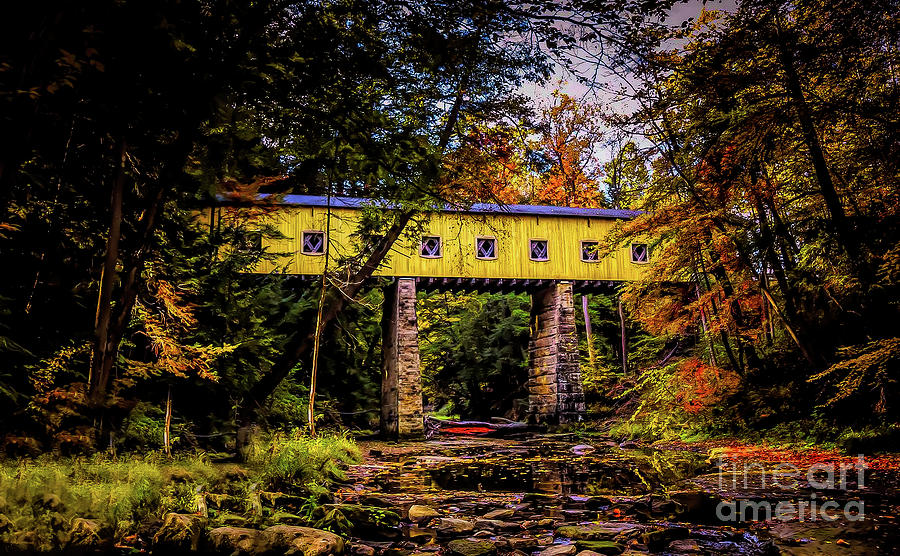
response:
[[[321,494],[359,459],[346,436],[294,432],[260,442],[242,465],[211,463],[202,453],[170,459],[158,452],[0,461],[0,514],[10,524],[0,530],[0,545],[32,531],[40,550],[57,549],[61,533],[79,517],[119,540],[168,512],[196,512],[198,493],[248,498],[248,510],[258,491]]]

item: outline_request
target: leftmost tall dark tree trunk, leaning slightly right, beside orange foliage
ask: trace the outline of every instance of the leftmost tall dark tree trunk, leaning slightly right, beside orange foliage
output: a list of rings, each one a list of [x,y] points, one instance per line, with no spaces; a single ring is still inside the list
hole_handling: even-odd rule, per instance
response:
[[[110,317],[112,315],[112,290],[119,259],[119,239],[122,235],[122,197],[125,189],[125,139],[118,140],[116,171],[110,193],[109,232],[106,238],[106,257],[100,275],[100,292],[97,296],[97,312],[94,317],[94,348],[91,354],[89,397],[99,402],[106,395],[106,384],[112,369],[110,352]]]

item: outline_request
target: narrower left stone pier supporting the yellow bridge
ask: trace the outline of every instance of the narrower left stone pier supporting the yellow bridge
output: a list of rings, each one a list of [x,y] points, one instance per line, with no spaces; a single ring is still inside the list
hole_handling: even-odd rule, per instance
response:
[[[388,438],[422,437],[425,429],[414,278],[398,278],[385,288],[381,330],[381,433]]]

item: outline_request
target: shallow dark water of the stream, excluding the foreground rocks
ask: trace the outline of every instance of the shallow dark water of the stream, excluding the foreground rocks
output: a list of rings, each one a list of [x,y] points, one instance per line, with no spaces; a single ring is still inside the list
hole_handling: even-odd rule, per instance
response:
[[[366,460],[351,469],[343,497],[353,502],[374,495],[404,517],[412,504],[421,504],[443,517],[474,522],[475,536],[469,539],[496,542],[496,554],[516,553],[514,548],[517,554],[539,554],[554,545],[580,542],[561,536],[560,527],[568,525],[625,526],[630,533],[614,540],[632,554],[900,554],[894,477],[875,474],[869,481],[874,487],[841,492],[817,491],[807,484],[772,489],[754,484],[753,477],[746,485],[723,484],[718,462],[702,451],[620,447],[604,439],[588,443],[565,435],[364,442]],[[796,503],[818,497],[820,504],[843,504],[859,499],[867,504],[867,515],[861,522],[811,522],[808,516],[722,522],[715,505],[684,512],[685,493],[688,501],[702,495],[707,502],[725,503]],[[679,496],[681,502],[675,503]],[[513,510],[506,530],[490,530],[490,523],[478,521],[498,509]],[[479,523],[488,530],[477,531]],[[648,546],[646,534],[652,531],[673,533],[675,540]],[[381,543],[377,553],[451,554],[451,538],[438,533],[424,544],[404,538]]]

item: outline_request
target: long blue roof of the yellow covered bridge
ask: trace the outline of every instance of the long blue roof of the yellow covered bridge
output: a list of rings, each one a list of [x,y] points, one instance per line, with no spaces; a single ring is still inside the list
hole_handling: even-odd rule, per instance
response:
[[[285,205],[297,205],[301,207],[324,207],[328,205],[328,198],[321,195],[285,195],[282,202]],[[359,208],[371,204],[377,203],[372,199],[365,199],[362,197],[331,198],[331,206],[337,208]],[[531,216],[576,216],[582,218],[634,218],[641,214],[641,211],[637,210],[589,209],[554,207],[548,205],[497,205],[492,203],[475,203],[468,207],[445,205],[443,212],[528,214]]]

